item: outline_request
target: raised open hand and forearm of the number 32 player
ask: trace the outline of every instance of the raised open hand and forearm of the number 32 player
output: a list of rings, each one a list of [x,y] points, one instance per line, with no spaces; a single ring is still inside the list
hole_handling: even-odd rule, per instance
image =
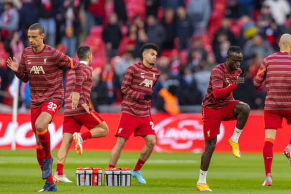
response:
[[[9,57],[6,63],[7,63],[7,66],[15,72],[15,75],[17,76],[17,78],[19,78],[19,80],[25,83],[29,80],[28,71],[26,70],[25,65],[24,65],[23,53],[21,55],[20,65],[16,61],[15,57],[13,57],[13,59]]]

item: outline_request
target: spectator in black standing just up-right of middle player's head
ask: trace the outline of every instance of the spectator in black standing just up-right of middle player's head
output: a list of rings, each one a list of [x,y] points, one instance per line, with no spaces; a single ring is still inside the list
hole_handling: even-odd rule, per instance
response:
[[[162,26],[166,31],[162,48],[174,49],[174,39],[176,37],[176,20],[175,11],[173,8],[165,9],[165,15],[162,18]]]

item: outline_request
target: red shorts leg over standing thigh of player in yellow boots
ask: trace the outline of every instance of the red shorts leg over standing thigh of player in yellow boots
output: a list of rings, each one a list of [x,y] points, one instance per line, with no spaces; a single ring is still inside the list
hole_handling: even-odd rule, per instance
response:
[[[222,109],[202,108],[202,125],[205,140],[215,138],[220,132]]]

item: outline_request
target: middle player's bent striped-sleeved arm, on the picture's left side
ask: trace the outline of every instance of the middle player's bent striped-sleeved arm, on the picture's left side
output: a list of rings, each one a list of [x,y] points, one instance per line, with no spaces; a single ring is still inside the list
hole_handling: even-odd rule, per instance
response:
[[[129,66],[121,84],[121,92],[125,95],[128,95],[131,98],[143,100],[145,99],[145,95],[140,92],[132,90],[130,87],[133,77],[134,77],[134,69],[132,66]]]

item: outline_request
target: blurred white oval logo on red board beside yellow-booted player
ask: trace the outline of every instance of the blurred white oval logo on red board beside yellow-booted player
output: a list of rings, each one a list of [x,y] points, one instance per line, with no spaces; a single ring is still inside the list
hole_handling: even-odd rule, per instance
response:
[[[204,150],[204,134],[201,119],[197,116],[180,114],[162,120],[155,126],[157,143],[155,151],[192,151]],[[207,135],[210,132],[207,132]],[[220,134],[217,143],[225,134],[223,124],[220,126]]]

